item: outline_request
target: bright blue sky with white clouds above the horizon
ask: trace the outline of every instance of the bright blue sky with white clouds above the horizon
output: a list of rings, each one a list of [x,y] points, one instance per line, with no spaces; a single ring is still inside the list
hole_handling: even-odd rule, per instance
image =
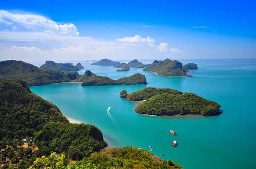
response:
[[[5,1],[0,59],[256,58],[255,6],[252,0]]]

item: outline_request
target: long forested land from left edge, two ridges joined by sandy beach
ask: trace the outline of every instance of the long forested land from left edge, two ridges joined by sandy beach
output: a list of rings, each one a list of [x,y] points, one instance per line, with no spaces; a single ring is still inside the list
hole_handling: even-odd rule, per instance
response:
[[[62,82],[79,82],[81,85],[145,85],[145,76],[136,73],[127,78],[112,80],[108,77],[97,76],[87,70],[84,75],[77,72],[60,72],[55,70],[41,70],[23,61],[7,60],[0,62],[0,80],[23,80],[29,86],[49,85]]]

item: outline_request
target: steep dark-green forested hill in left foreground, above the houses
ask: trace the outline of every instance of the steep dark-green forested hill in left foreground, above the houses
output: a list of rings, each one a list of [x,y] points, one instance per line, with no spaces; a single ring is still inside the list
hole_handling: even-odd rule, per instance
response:
[[[17,144],[23,144],[22,138],[38,150],[17,148]],[[107,143],[97,127],[70,124],[58,107],[32,93],[25,82],[0,81],[0,149],[7,147],[4,160],[8,157],[17,163],[15,156],[19,156],[23,161],[19,165],[29,166],[35,158],[53,151],[81,160],[105,146]]]

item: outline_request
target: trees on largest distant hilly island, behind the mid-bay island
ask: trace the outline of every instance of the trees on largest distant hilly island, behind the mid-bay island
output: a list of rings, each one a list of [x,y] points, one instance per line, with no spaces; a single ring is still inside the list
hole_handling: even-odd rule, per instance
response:
[[[186,70],[182,68],[182,63],[177,60],[165,59],[164,61],[154,61],[144,71],[151,71],[160,76],[190,76],[186,74]]]

